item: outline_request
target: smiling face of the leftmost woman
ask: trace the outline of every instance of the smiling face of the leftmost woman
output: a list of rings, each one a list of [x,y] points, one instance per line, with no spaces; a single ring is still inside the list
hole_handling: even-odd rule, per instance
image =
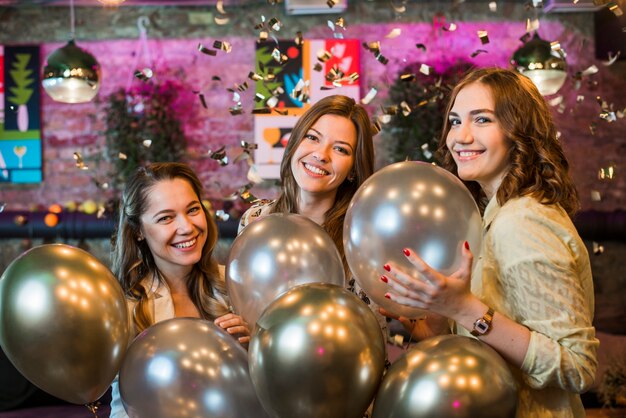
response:
[[[148,190],[141,233],[157,267],[166,275],[186,275],[202,257],[207,219],[188,181],[176,178]]]

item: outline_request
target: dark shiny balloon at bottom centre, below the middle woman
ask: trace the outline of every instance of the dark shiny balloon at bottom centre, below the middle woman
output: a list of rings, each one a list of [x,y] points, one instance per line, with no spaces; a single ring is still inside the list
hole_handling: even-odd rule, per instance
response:
[[[382,377],[385,341],[372,311],[343,287],[294,287],[263,312],[250,377],[275,418],[361,418]]]

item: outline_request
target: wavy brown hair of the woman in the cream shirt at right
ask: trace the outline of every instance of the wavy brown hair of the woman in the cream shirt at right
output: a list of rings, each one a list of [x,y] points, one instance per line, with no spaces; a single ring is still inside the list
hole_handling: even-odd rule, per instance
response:
[[[444,168],[458,176],[452,154],[446,146],[450,131],[448,115],[459,92],[472,83],[491,91],[495,116],[511,143],[510,169],[496,192],[498,203],[533,196],[543,204],[559,204],[570,217],[579,208],[578,194],[569,173],[569,163],[558,140],[548,104],[533,82],[503,68],[481,68],[469,72],[450,93],[443,131],[437,149]],[[480,185],[464,181],[483,210],[488,202]]]

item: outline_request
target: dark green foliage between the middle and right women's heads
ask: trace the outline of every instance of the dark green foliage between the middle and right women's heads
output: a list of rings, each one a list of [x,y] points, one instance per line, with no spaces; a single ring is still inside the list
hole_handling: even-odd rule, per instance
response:
[[[442,74],[426,76],[419,72],[420,66],[421,63],[407,66],[389,89],[392,110],[387,113],[395,110],[395,114],[381,132],[386,164],[406,159],[435,162],[448,93],[471,68],[459,63]],[[414,74],[415,78],[404,81],[402,74]],[[402,102],[411,109],[408,115],[402,113]]]

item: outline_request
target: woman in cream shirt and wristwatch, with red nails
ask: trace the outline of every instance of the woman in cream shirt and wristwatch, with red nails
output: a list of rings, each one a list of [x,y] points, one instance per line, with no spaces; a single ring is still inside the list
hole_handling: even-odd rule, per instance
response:
[[[385,296],[434,314],[415,323],[417,338],[444,331],[445,317],[494,348],[516,377],[517,417],[584,417],[579,393],[597,367],[593,283],[550,109],[528,78],[475,70],[452,91],[439,152],[483,211],[480,257],[472,269],[466,242],[446,276],[407,248],[421,275],[386,264]]]

